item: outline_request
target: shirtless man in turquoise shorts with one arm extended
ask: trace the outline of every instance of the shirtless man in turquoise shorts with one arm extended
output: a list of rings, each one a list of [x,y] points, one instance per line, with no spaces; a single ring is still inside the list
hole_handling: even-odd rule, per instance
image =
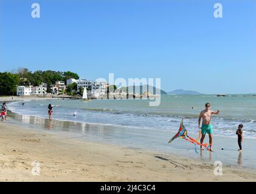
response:
[[[199,128],[199,130],[201,130],[201,133],[202,133],[201,144],[204,142],[206,133],[208,133],[211,152],[213,152],[213,149],[212,149],[213,127],[211,124],[211,120],[212,120],[212,115],[218,115],[218,114],[220,114],[220,110],[217,110],[217,112],[210,110],[210,103],[207,102],[206,110],[202,110],[202,112],[200,113],[199,119],[198,119],[198,128]],[[201,118],[202,118],[202,127],[201,127]],[[203,150],[202,146],[201,146],[201,150]]]

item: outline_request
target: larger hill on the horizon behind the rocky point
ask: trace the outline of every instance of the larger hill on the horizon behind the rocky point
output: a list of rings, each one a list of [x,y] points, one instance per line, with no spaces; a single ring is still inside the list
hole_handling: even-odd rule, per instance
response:
[[[144,92],[149,92],[151,95],[156,95],[156,87],[153,87],[151,85],[134,85],[129,87],[122,87],[121,89],[116,90],[116,92],[119,92],[122,90],[123,92],[127,92],[128,90],[132,93],[140,93],[143,94]],[[167,92],[164,90],[161,90],[161,95],[167,95]]]

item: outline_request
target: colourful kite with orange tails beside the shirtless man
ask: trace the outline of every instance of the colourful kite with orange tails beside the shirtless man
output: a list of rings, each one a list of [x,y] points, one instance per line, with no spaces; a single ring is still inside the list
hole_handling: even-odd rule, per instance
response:
[[[209,149],[209,144],[206,144],[206,143],[205,143],[205,144],[200,144],[200,143],[198,142],[200,136],[201,136],[201,132],[199,131],[199,136],[198,136],[197,139],[190,138],[190,136],[187,135],[187,129],[185,129],[185,126],[183,125],[183,119],[182,119],[182,120],[181,120],[181,125],[180,125],[180,127],[179,127],[179,132],[178,132],[175,136],[173,136],[173,138],[171,138],[168,143],[172,142],[172,141],[175,140],[176,138],[181,138],[181,139],[185,139],[185,140],[191,142],[192,144],[194,144],[194,145],[195,145],[195,152],[196,152],[196,153],[197,153],[197,151],[196,151],[196,145],[205,147],[208,151],[210,151],[210,149]]]

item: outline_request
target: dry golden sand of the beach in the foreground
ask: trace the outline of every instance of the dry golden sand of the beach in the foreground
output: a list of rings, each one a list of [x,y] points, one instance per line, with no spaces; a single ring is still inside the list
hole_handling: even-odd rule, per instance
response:
[[[256,181],[255,172],[0,122],[0,181]],[[32,175],[32,162],[40,175]]]

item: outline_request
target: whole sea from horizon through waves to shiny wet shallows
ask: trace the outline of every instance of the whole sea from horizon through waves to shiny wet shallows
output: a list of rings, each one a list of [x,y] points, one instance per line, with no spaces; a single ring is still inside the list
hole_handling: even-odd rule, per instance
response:
[[[156,156],[177,155],[215,164],[256,170],[256,96],[255,95],[168,95],[161,96],[159,106],[150,106],[152,99],[40,99],[7,103],[9,119],[26,129],[47,130],[66,138],[124,146]],[[184,139],[168,144],[179,129],[181,120],[188,135],[198,138],[198,116],[206,102],[213,115],[213,150],[200,152],[198,146]],[[24,103],[24,104],[23,104]],[[53,120],[47,107],[52,104]],[[74,116],[74,113],[77,115]],[[243,153],[239,153],[238,125],[243,124]],[[205,142],[209,138],[206,136]]]

